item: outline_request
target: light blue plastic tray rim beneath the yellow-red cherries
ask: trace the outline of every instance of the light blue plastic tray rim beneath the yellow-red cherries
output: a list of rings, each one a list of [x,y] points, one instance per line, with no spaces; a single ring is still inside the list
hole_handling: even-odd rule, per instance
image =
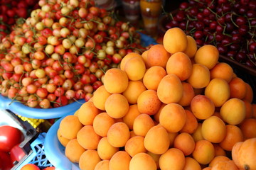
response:
[[[62,118],[70,113],[75,113],[82,103],[85,103],[84,99],[59,108],[30,108],[18,101],[12,101],[10,98],[0,95],[0,109],[8,109],[17,115],[36,119]]]

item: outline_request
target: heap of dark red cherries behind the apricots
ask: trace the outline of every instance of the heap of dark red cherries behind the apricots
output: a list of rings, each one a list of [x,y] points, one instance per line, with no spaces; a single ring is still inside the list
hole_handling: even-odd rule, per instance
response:
[[[161,18],[161,30],[179,27],[197,45],[215,45],[225,62],[256,75],[256,1],[195,1],[181,3]]]

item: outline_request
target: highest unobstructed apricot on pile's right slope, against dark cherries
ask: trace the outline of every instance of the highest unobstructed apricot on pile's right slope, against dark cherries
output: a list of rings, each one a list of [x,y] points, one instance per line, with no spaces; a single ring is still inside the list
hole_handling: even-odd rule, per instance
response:
[[[208,69],[212,69],[217,64],[218,59],[219,52],[214,45],[203,45],[197,50],[194,57],[196,63],[203,64]]]

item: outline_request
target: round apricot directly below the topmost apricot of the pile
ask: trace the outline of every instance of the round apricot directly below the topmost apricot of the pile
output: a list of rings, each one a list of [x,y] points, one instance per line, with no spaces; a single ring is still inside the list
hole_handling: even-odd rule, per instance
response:
[[[181,81],[188,79],[192,73],[192,64],[188,55],[183,52],[171,55],[166,63],[166,72],[176,74]]]

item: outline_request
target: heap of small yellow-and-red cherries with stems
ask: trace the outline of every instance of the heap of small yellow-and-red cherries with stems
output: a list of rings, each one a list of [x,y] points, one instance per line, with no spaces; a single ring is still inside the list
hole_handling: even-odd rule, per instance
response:
[[[0,43],[0,91],[9,105],[60,108],[88,101],[107,69],[127,53],[145,50],[134,26],[94,1],[38,5]]]

